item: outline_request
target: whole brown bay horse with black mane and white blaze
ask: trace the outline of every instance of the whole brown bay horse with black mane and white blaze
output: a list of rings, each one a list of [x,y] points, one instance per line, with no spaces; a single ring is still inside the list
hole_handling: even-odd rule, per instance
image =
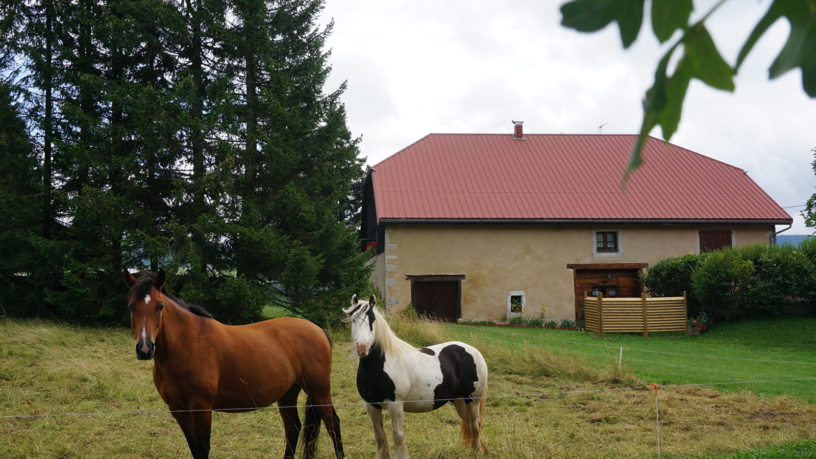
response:
[[[136,357],[153,359],[153,383],[179,423],[195,459],[210,454],[212,412],[247,412],[277,402],[286,436],[284,459],[295,457],[301,423],[298,395],[307,395],[304,457],[314,457],[321,420],[335,456],[344,457],[331,402],[331,344],[304,319],[221,324],[201,307],[164,288],[165,272],[125,271]]]

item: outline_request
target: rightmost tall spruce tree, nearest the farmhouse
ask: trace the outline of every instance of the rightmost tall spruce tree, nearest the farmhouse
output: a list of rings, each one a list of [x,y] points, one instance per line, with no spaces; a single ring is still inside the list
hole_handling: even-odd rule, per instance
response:
[[[314,319],[332,316],[365,285],[354,228],[344,218],[361,179],[357,139],[345,124],[343,87],[324,94],[320,1],[233,0],[228,32],[241,152],[228,219],[237,278]],[[251,291],[253,291],[251,289]]]

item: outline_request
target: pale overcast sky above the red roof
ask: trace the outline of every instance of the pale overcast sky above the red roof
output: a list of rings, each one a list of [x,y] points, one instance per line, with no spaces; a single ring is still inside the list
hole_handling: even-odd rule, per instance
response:
[[[348,126],[366,162],[430,133],[510,133],[511,120],[531,134],[597,133],[601,124],[605,134],[638,132],[641,99],[667,48],[651,31],[650,3],[628,50],[617,23],[597,33],[562,27],[561,3],[326,0],[322,18],[335,21],[326,89],[348,82]],[[694,3],[699,17],[714,2]],[[731,0],[707,20],[730,64],[768,5]],[[692,82],[671,142],[747,170],[794,218],[786,234],[810,234],[796,206],[816,192],[816,99],[798,68],[768,80],[788,30],[780,20],[765,33],[734,93]],[[663,139],[659,128],[651,135]]]

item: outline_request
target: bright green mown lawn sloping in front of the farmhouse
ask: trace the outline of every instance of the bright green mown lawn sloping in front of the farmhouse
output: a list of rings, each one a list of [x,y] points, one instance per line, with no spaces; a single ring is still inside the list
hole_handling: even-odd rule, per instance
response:
[[[569,330],[452,325],[455,336],[511,346],[539,346],[554,355],[579,356],[599,365],[618,364],[644,382],[712,384],[719,391],[786,395],[816,404],[816,318],[782,316],[721,324],[683,333],[592,333]],[[621,350],[623,347],[623,358]],[[762,382],[757,382],[762,381]],[[774,381],[774,382],[765,382]],[[735,382],[751,382],[734,384]]]

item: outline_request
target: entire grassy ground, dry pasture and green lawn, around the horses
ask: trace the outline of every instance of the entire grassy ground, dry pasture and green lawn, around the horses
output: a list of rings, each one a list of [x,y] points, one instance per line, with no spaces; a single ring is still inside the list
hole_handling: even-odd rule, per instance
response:
[[[753,361],[816,362],[814,325],[808,318],[779,319],[721,326],[700,337],[599,339],[562,330],[392,323],[417,346],[462,339],[483,352],[494,397],[484,421],[490,457],[525,459],[657,457],[654,391],[632,387],[816,377],[814,365]],[[331,335],[346,452],[373,457],[348,333]],[[135,360],[129,330],[0,319],[0,336],[0,457],[189,457],[153,387],[152,363]],[[814,381],[662,387],[661,457],[816,457]],[[211,457],[282,456],[274,408],[215,413],[213,425]],[[458,431],[450,406],[406,417],[415,459],[473,457],[459,448]],[[324,430],[319,457],[332,456]]]

